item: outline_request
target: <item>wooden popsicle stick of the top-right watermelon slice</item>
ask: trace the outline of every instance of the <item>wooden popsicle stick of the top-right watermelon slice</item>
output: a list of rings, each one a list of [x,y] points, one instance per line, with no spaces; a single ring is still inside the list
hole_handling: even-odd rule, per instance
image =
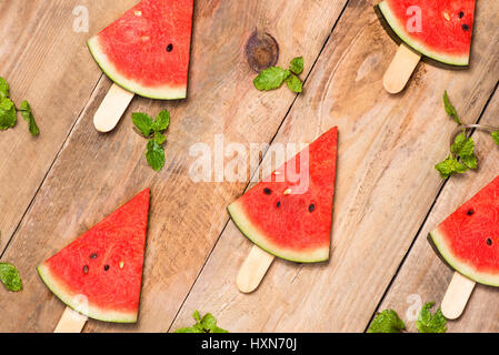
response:
[[[410,77],[418,67],[421,54],[412,51],[406,44],[400,44],[397,54],[388,67],[383,78],[385,89],[389,93],[399,93],[406,88]]]

